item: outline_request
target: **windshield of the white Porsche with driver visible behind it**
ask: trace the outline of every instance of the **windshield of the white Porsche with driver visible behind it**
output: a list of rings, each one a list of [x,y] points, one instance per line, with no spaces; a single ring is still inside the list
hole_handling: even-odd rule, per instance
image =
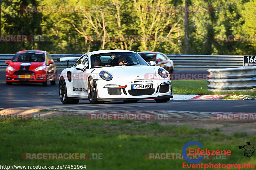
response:
[[[91,56],[92,68],[107,66],[128,66],[128,65],[148,65],[137,53],[116,52],[101,53]]]

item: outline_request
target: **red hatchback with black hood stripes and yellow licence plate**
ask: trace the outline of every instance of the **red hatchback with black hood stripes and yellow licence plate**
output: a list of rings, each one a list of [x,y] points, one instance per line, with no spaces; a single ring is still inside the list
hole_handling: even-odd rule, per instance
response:
[[[44,86],[55,85],[56,66],[46,51],[27,50],[17,52],[5,70],[6,84],[13,82],[41,82]]]

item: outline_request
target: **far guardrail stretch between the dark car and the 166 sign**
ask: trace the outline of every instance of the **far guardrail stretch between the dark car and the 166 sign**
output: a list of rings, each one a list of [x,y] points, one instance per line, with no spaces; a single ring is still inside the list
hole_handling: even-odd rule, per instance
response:
[[[221,69],[243,67],[243,55],[167,55],[174,68]]]

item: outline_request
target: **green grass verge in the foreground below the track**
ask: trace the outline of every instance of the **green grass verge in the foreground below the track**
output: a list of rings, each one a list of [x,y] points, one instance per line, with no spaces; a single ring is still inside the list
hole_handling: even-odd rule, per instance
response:
[[[231,150],[227,160],[211,163],[256,163],[244,158],[238,145],[256,141],[246,133],[224,135],[221,129],[145,124],[133,121],[90,121],[83,118],[51,118],[40,121],[0,122],[0,165],[86,165],[88,169],[182,169],[185,160],[148,160],[146,153],[181,153],[195,140],[212,150]],[[23,160],[26,152],[103,153],[102,160]],[[203,160],[202,163],[209,163]],[[201,163],[200,162],[200,163]]]

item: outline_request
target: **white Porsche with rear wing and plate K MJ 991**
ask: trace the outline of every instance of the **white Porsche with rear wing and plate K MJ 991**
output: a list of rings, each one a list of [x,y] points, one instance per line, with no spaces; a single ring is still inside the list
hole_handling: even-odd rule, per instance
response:
[[[80,99],[89,99],[92,104],[113,100],[132,103],[142,99],[166,102],[173,97],[169,72],[153,61],[148,65],[134,51],[100,50],[57,60],[77,60],[60,74],[59,94],[63,104],[76,104]]]

